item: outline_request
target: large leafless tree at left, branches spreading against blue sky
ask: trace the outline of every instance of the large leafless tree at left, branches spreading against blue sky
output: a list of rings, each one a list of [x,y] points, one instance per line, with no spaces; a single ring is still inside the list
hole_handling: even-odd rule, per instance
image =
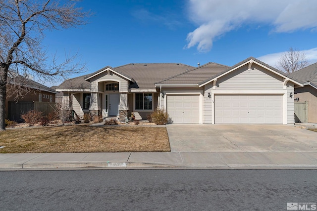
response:
[[[0,0],[0,130],[5,130],[5,98],[13,76],[33,76],[44,80],[65,78],[81,72],[83,64],[76,63],[77,55],[48,62],[47,51],[41,41],[47,30],[57,30],[85,24],[89,12],[76,7],[76,0]],[[11,75],[11,76],[10,76]]]

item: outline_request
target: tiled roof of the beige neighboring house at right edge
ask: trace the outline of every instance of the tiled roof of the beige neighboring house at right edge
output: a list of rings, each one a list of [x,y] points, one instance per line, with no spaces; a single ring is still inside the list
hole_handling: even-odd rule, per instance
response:
[[[317,87],[317,63],[288,74],[288,77],[302,83],[310,82]]]

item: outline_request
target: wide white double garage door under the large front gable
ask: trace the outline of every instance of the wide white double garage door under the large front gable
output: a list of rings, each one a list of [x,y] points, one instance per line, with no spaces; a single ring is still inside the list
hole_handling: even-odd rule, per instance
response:
[[[215,124],[282,124],[282,95],[214,95]]]

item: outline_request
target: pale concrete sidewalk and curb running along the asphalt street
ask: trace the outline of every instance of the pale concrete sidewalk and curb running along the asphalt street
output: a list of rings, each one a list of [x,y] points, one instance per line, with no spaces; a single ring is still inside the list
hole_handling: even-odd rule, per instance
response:
[[[96,168],[317,169],[317,152],[0,154],[0,170]]]

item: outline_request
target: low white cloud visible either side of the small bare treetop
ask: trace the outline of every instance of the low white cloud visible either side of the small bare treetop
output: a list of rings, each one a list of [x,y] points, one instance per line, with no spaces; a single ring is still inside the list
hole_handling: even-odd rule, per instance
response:
[[[313,64],[317,62],[317,47],[308,49],[308,50],[302,50],[302,51],[304,51],[309,64]],[[264,63],[272,67],[277,68],[276,64],[278,63],[279,58],[286,52],[287,51],[271,53],[264,56],[260,56],[257,59],[263,61]]]

